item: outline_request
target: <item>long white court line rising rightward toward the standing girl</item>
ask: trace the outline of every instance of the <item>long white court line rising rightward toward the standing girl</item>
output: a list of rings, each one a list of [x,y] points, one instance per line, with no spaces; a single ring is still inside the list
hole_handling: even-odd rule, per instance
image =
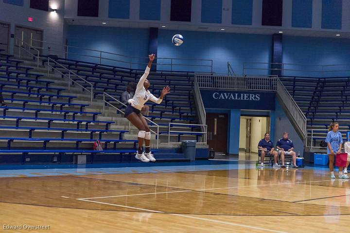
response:
[[[118,196],[106,196],[106,197],[84,197],[77,199],[98,199],[98,198],[109,198],[109,197],[130,197],[130,196],[142,196],[142,195],[154,195],[154,194],[166,194],[166,193],[183,193],[183,192],[198,192],[198,191],[208,191],[208,190],[217,190],[217,189],[233,189],[233,188],[247,188],[247,187],[261,187],[261,186],[270,186],[270,185],[283,185],[283,184],[300,184],[300,183],[311,183],[311,182],[324,182],[324,181],[332,181],[332,180],[340,180],[340,179],[329,179],[329,180],[314,180],[314,181],[302,181],[302,182],[285,182],[285,183],[275,183],[275,184],[259,184],[259,185],[246,185],[246,186],[234,186],[234,187],[222,187],[222,188],[210,188],[210,189],[195,189],[195,190],[179,190],[179,191],[169,191],[169,192],[156,192],[156,193],[143,193],[143,194],[126,194],[126,195],[118,195]],[[118,180],[116,180],[118,181]],[[175,187],[169,187],[174,188]],[[183,188],[182,188],[183,189]]]

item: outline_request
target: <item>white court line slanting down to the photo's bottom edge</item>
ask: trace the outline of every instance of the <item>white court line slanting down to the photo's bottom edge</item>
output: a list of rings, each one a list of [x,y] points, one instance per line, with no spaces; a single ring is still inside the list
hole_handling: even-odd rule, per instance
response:
[[[130,208],[130,209],[134,209],[134,210],[153,212],[153,213],[157,213],[157,214],[168,214],[166,212],[157,211],[157,210],[148,210],[148,209],[137,208],[137,207],[132,207],[132,206],[112,204],[112,203],[108,203],[108,202],[93,201],[93,200],[87,200],[87,199],[84,199],[84,198],[77,198],[77,200],[94,202],[94,203],[105,204],[105,205],[118,206],[118,207],[123,207],[123,208]],[[180,216],[180,217],[193,218],[193,219],[197,219],[197,220],[221,223],[221,224],[232,225],[232,226],[237,226],[237,227],[244,227],[244,228],[250,228],[250,229],[255,229],[255,230],[262,230],[262,231],[267,231],[267,232],[286,233],[286,232],[271,230],[271,229],[267,229],[267,228],[260,228],[260,227],[254,227],[254,226],[243,225],[243,224],[238,224],[238,223],[219,221],[219,220],[210,219],[210,218],[204,218],[204,217],[195,217],[195,216],[191,216],[191,215],[182,215],[182,214],[168,214],[168,215],[175,215],[175,216]]]

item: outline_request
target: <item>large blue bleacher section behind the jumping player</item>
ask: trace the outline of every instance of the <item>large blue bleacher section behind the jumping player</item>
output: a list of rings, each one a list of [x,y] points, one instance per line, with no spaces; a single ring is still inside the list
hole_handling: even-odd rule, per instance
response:
[[[137,129],[123,118],[119,96],[125,82],[138,80],[140,72],[128,70],[126,74],[125,69],[116,67],[61,62],[33,53],[39,52],[22,42],[18,40],[16,47],[21,51],[20,58],[0,54],[0,88],[8,104],[0,108],[3,111],[0,132],[7,136],[0,137],[0,154],[21,154],[20,158],[15,156],[18,163],[24,163],[23,158],[33,153],[53,155],[55,162],[71,162],[74,153],[89,153],[95,158],[99,152],[92,150],[92,143],[100,140],[104,153],[111,155],[109,158],[134,161]],[[73,67],[82,69],[70,69]],[[96,76],[96,72],[100,75]],[[155,79],[154,90],[168,82],[178,95],[174,98],[170,94],[161,105],[150,105],[152,115],[146,118],[153,132],[151,146],[159,147],[156,151],[159,161],[186,161],[178,145],[183,139],[197,139],[202,151],[199,157],[208,156],[206,132],[200,130],[205,125],[195,124],[195,107],[190,95],[193,79],[188,75],[186,72],[151,75]],[[104,78],[106,84],[99,86]],[[96,157],[97,161],[102,157]]]

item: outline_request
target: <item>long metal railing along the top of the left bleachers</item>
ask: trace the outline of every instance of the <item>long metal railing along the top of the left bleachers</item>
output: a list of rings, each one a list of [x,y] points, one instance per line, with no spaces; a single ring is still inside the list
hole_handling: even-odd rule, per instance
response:
[[[56,54],[60,57],[70,58],[74,56],[75,60],[84,61],[86,58],[92,59],[93,62],[99,64],[106,64],[113,62],[115,66],[135,69],[138,65],[146,65],[148,57],[136,57],[123,54],[115,54],[101,50],[93,50],[76,46],[55,44],[43,40],[35,40],[41,44],[40,47],[35,47],[41,51],[45,51],[47,55]],[[179,71],[179,67],[187,67],[188,69],[195,69],[195,71],[212,72],[213,61],[211,59],[191,59],[191,58],[171,58],[171,57],[157,57],[154,64],[160,67],[165,67],[167,71]],[[136,68],[137,69],[137,68]],[[159,70],[159,68],[158,68]]]

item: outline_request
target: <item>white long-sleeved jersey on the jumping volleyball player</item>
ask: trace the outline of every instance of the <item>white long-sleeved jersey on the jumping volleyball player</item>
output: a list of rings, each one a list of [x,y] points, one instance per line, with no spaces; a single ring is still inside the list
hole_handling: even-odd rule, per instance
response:
[[[141,108],[144,106],[147,100],[151,100],[157,104],[160,104],[162,102],[162,99],[157,98],[156,96],[151,94],[149,90],[146,90],[143,87],[143,83],[148,77],[149,71],[150,71],[150,68],[147,66],[144,74],[140,78],[140,81],[137,85],[134,97],[128,100],[128,103],[131,104],[132,107],[137,108],[139,110],[141,110]]]

